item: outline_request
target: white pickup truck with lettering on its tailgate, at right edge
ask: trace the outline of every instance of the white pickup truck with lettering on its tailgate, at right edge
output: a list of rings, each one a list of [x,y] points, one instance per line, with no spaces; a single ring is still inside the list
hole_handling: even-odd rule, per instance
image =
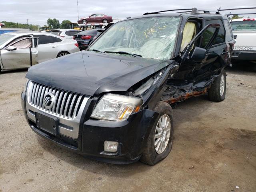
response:
[[[230,20],[236,43],[232,60],[250,60],[256,62],[256,18]]]

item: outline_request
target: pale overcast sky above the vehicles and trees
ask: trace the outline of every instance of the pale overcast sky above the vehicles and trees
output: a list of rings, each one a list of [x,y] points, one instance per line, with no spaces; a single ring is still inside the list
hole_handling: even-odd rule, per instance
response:
[[[159,10],[193,8],[216,10],[219,7],[244,8],[256,7],[255,0],[78,0],[79,18],[93,13],[102,13],[112,18],[124,19],[139,16],[145,12]],[[0,0],[0,21],[18,23],[46,24],[48,18],[78,20],[76,0]],[[222,12],[223,14],[230,11]],[[254,10],[234,10],[232,13],[256,13]],[[248,15],[245,15],[247,17]],[[256,17],[256,14],[249,15]]]

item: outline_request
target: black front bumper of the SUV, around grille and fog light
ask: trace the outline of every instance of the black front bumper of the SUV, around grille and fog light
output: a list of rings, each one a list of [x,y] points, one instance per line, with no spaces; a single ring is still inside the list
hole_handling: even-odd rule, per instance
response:
[[[157,112],[143,109],[132,114],[126,121],[111,122],[90,119],[86,117],[90,113],[85,112],[82,116],[83,120],[80,121],[79,136],[77,139],[72,139],[61,134],[54,136],[38,128],[27,115],[24,98],[25,94],[22,92],[22,108],[26,120],[34,132],[73,152],[115,164],[127,164],[139,160],[158,116]],[[105,140],[117,141],[117,152],[104,152]]]

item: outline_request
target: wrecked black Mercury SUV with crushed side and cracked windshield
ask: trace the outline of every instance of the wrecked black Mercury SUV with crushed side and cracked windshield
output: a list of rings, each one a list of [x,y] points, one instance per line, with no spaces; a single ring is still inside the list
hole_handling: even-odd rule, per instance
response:
[[[106,162],[165,158],[174,134],[170,104],[205,93],[224,100],[234,45],[226,16],[169,11],[117,22],[86,51],[32,66],[22,92],[32,130]]]

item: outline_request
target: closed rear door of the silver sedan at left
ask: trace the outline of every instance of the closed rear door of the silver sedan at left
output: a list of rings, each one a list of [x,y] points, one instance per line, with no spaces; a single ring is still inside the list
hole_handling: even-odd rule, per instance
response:
[[[53,58],[59,52],[60,42],[62,39],[50,35],[34,35],[34,37],[39,37],[38,43],[38,62],[44,62]]]

